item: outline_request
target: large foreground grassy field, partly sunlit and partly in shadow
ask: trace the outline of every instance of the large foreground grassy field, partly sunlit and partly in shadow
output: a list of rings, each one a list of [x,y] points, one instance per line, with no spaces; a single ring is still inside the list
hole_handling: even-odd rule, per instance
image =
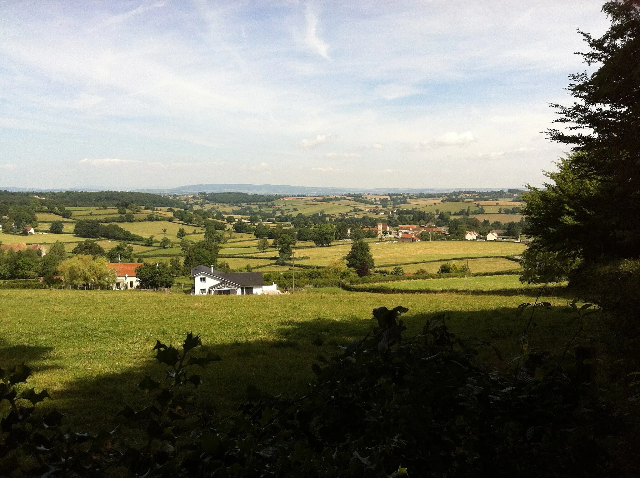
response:
[[[145,374],[161,374],[151,353],[156,339],[177,345],[193,330],[223,358],[202,373],[205,383],[198,389],[196,404],[227,413],[237,407],[249,384],[273,393],[303,388],[312,378],[314,357],[363,337],[374,324],[371,309],[381,305],[410,308],[404,317],[406,335],[418,333],[434,314],[445,314],[453,331],[492,340],[508,360],[516,353],[515,337],[527,320],[516,317],[515,307],[531,300],[454,293],[390,296],[340,289],[202,297],[0,290],[0,366],[28,363],[34,367],[28,386],[47,388],[52,405],[74,412],[75,426],[95,427],[103,424],[97,411],[113,417],[123,404],[137,406],[147,400],[136,383]],[[537,314],[532,345],[560,347],[569,335],[566,315],[546,310]],[[481,360],[495,356],[484,351]]]

